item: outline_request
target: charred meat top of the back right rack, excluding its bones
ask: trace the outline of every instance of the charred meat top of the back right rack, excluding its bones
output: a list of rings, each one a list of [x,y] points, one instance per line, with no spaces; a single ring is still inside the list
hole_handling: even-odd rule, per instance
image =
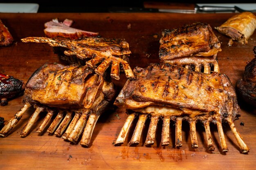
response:
[[[194,55],[211,59],[219,51],[221,51],[220,42],[207,23],[196,22],[162,31],[159,48],[161,60],[173,60]]]

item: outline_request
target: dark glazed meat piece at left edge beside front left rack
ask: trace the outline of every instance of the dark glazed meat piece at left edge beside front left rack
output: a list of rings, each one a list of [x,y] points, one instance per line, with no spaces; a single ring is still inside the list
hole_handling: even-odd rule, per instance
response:
[[[23,81],[18,80],[13,76],[0,73],[0,105],[7,105],[7,99],[22,95],[24,87],[25,84]]]

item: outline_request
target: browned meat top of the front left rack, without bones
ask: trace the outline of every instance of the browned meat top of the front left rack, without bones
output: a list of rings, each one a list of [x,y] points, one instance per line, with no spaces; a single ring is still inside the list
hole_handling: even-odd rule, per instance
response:
[[[24,102],[58,108],[89,108],[103,85],[103,78],[85,66],[46,63],[26,84]]]

